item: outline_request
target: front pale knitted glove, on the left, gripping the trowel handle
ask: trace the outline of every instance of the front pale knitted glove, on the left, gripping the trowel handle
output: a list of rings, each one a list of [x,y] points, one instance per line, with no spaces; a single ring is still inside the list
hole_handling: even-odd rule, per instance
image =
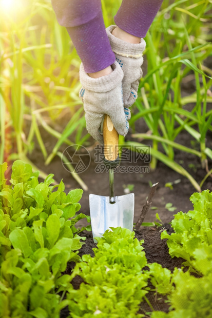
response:
[[[84,104],[86,127],[91,136],[104,144],[100,126],[103,115],[110,116],[114,128],[120,135],[125,136],[129,129],[127,119],[130,118],[128,109],[124,109],[122,95],[123,71],[118,62],[111,65],[113,71],[99,78],[90,77],[80,66],[80,98]],[[126,114],[125,114],[126,111]]]

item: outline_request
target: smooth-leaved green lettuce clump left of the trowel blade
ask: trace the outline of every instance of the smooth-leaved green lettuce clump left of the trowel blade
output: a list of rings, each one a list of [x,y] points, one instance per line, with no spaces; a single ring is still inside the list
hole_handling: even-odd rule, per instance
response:
[[[0,317],[59,317],[70,287],[63,272],[68,261],[79,261],[83,244],[75,227],[86,217],[75,215],[83,191],[66,194],[62,181],[50,186],[53,174],[39,183],[38,172],[20,160],[7,185],[6,169],[0,165]]]

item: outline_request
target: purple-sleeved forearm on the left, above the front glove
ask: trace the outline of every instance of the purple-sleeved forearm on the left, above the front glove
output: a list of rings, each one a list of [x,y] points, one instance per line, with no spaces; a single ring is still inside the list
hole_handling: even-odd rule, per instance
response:
[[[66,27],[86,73],[107,75],[115,55],[105,31],[101,0],[51,0],[57,21]],[[91,74],[98,76],[99,74]]]

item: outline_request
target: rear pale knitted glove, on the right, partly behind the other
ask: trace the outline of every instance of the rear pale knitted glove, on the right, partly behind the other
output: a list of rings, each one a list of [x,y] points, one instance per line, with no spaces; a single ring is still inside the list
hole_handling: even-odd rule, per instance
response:
[[[138,97],[139,80],[143,74],[141,69],[143,64],[142,55],[146,42],[143,38],[139,44],[123,41],[112,35],[112,31],[116,27],[111,25],[106,29],[106,32],[112,51],[115,53],[115,59],[124,72],[122,81],[124,106],[130,107]]]

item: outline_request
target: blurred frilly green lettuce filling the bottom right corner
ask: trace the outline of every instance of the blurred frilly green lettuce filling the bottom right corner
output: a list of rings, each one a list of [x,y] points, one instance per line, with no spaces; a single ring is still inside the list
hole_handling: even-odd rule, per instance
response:
[[[212,315],[212,275],[195,277],[189,271],[175,268],[171,273],[160,264],[148,265],[156,294],[167,296],[169,312],[153,311],[151,318],[199,318]]]

